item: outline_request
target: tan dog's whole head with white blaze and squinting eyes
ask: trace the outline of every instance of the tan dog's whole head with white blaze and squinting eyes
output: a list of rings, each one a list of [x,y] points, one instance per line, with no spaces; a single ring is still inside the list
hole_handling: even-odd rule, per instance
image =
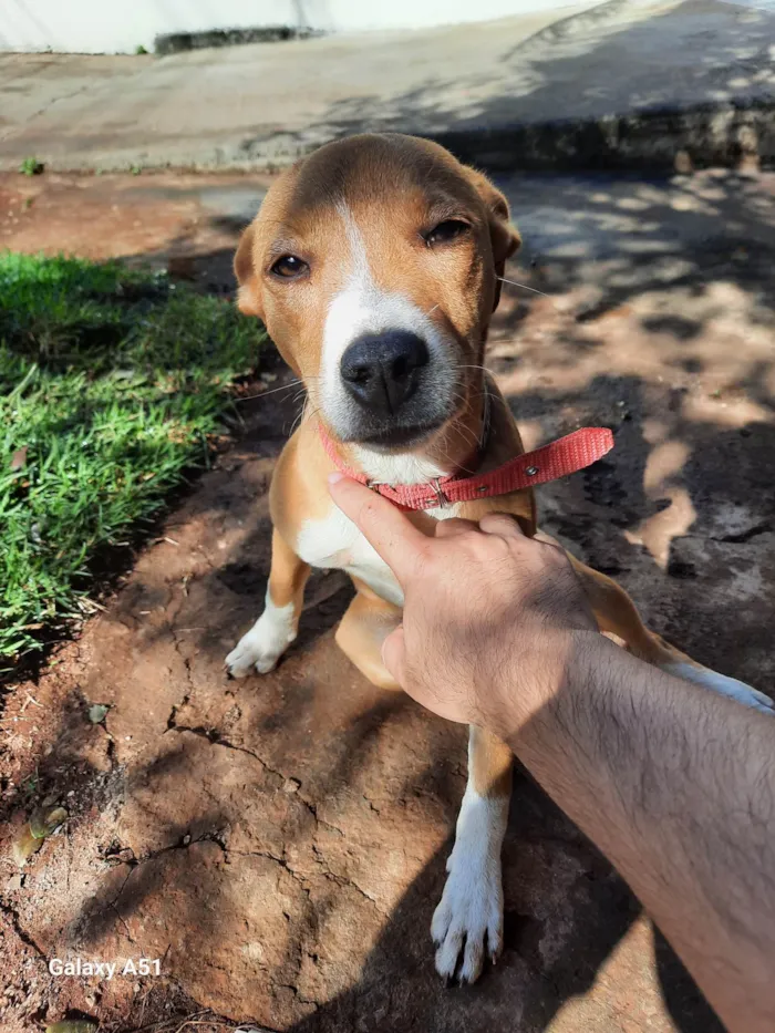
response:
[[[412,448],[474,403],[518,246],[505,198],[443,147],[353,136],[272,185],[237,251],[239,307],[340,441]]]

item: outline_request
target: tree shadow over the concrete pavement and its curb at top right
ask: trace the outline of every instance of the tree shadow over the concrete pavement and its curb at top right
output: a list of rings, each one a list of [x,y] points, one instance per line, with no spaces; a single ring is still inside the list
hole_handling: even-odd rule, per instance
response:
[[[334,101],[303,130],[246,127],[241,152],[266,161],[353,133],[402,132],[490,169],[642,167],[644,151],[660,169],[679,151],[705,164],[772,158],[775,16],[686,0],[645,21],[617,20],[626,10],[609,0],[504,44],[486,74],[462,55],[402,93]]]

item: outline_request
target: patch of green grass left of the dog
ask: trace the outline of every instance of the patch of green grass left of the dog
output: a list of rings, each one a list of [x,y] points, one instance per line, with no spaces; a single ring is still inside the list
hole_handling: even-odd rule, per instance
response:
[[[106,549],[206,465],[264,339],[166,276],[0,254],[0,659],[90,609]]]

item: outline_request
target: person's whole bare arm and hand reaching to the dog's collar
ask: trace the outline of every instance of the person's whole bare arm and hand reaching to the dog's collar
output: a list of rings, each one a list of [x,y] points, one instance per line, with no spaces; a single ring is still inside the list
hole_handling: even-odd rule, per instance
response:
[[[509,743],[607,854],[732,1031],[775,1026],[775,722],[596,630],[565,554],[510,517],[428,538],[373,493],[332,495],[393,567],[383,659],[436,713]]]

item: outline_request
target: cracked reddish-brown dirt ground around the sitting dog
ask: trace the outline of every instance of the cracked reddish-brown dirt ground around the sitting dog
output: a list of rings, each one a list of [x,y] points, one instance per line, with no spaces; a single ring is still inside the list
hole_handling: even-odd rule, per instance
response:
[[[265,185],[0,177],[0,245],[147,258],[228,292]],[[508,289],[489,364],[528,445],[590,423],[617,440],[539,489],[542,526],[617,577],[657,631],[772,691],[775,182],[504,185],[526,238],[508,276],[542,293]],[[428,927],[465,732],[338,652],[339,575],[313,579],[275,673],[226,680],[224,655],[261,608],[266,489],[293,395],[240,403],[232,447],[104,611],[6,699],[3,1031],[65,1014],[116,1033],[186,1015],[293,1033],[721,1030],[621,879],[521,771],[504,955],[474,988],[441,985]],[[110,707],[97,724],[93,703]],[[43,799],[70,818],[19,870],[9,844]],[[76,957],[120,971],[159,959],[161,975],[49,973]]]

